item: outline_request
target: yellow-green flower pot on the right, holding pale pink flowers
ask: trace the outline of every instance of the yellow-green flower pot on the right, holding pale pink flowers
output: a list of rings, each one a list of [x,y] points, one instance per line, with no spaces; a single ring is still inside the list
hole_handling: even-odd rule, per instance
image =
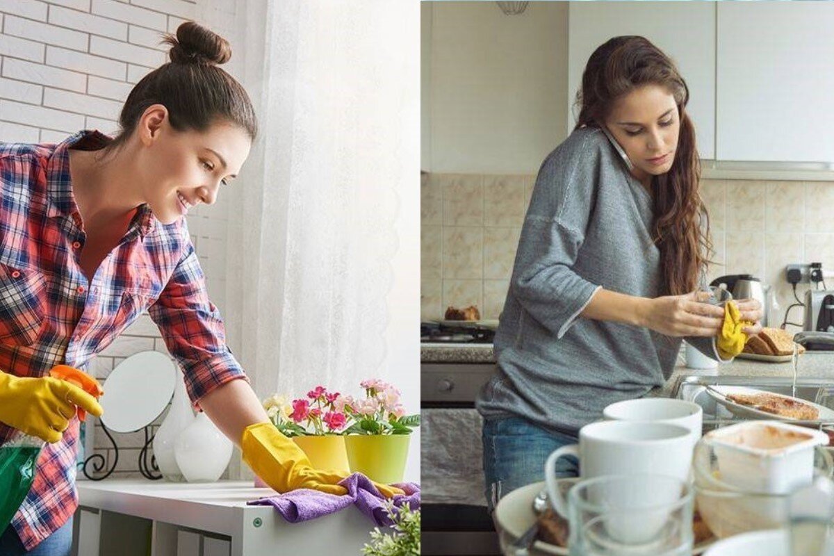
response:
[[[410,434],[349,434],[344,437],[344,447],[350,471],[377,483],[402,483],[410,441]]]

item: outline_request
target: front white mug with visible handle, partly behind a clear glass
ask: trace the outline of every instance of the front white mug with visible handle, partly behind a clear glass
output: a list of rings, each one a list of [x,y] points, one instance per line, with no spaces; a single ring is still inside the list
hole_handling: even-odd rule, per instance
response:
[[[545,463],[545,482],[550,503],[563,518],[568,504],[556,488],[556,461],[567,455],[580,459],[581,478],[632,473],[658,473],[689,480],[692,460],[690,430],[678,424],[630,421],[600,421],[580,428],[579,443],[557,448]],[[651,493],[661,499],[680,493]],[[631,494],[630,494],[631,495]]]

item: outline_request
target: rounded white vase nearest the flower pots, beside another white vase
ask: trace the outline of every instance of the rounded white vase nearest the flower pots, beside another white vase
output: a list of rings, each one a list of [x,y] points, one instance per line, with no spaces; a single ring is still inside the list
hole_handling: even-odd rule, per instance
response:
[[[189,483],[212,482],[229,465],[232,441],[214,426],[205,413],[198,413],[193,423],[179,433],[174,453],[183,477]]]

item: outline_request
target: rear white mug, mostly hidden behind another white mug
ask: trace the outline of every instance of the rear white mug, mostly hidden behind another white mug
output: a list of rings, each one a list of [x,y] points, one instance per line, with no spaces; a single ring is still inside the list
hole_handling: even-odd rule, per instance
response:
[[[651,421],[671,423],[689,430],[692,448],[701,438],[704,410],[695,402],[673,398],[639,398],[611,403],[602,410],[609,421]]]

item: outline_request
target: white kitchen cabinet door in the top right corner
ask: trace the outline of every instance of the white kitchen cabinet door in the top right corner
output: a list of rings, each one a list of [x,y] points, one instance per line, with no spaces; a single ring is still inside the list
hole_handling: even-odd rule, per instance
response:
[[[717,10],[717,158],[834,162],[834,3]]]

